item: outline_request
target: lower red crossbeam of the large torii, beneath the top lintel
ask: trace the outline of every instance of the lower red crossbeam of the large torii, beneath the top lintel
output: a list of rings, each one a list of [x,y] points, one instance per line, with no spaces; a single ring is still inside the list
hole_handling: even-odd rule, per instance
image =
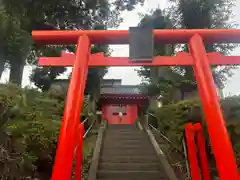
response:
[[[220,53],[208,53],[211,65],[237,65],[240,56],[222,56]],[[39,57],[41,66],[72,66],[76,57],[74,54],[63,53],[61,57]],[[156,56],[153,62],[131,62],[127,57],[104,57],[102,53],[90,56],[90,67],[100,66],[193,66],[193,59],[187,53],[178,53],[177,56]]]

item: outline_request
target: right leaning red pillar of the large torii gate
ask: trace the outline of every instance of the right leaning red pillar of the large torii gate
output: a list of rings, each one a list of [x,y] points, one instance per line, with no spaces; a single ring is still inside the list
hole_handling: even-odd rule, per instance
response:
[[[221,180],[239,180],[232,144],[225,126],[214,80],[201,36],[195,35],[189,44],[194,59],[199,95],[206,117],[209,136]]]

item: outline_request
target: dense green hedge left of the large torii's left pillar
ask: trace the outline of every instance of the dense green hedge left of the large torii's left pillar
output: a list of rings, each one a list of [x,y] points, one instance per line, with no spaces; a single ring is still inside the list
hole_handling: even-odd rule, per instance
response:
[[[50,179],[65,96],[0,86],[0,179]]]

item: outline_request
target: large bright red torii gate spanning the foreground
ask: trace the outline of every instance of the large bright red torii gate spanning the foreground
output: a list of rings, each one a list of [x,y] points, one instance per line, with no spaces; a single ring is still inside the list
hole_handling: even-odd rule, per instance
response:
[[[91,44],[128,44],[129,32],[127,30],[33,31],[33,39],[38,44],[77,44],[75,55],[62,54],[62,57],[40,58],[39,61],[41,65],[45,66],[73,66],[53,169],[53,180],[70,179],[76,138],[80,139],[78,146],[82,145],[81,137],[78,137],[79,111],[82,108],[88,66],[162,65],[193,66],[220,178],[221,180],[239,179],[232,145],[214,88],[210,65],[240,64],[240,57],[225,57],[218,53],[207,54],[204,42],[239,43],[240,30],[153,30],[153,35],[156,43],[188,43],[191,55],[179,53],[174,57],[155,57],[152,62],[147,63],[130,62],[128,58],[104,57],[103,54],[90,55]],[[81,162],[78,163],[76,172],[80,171],[80,168]],[[75,179],[78,178],[80,176],[77,173]]]

